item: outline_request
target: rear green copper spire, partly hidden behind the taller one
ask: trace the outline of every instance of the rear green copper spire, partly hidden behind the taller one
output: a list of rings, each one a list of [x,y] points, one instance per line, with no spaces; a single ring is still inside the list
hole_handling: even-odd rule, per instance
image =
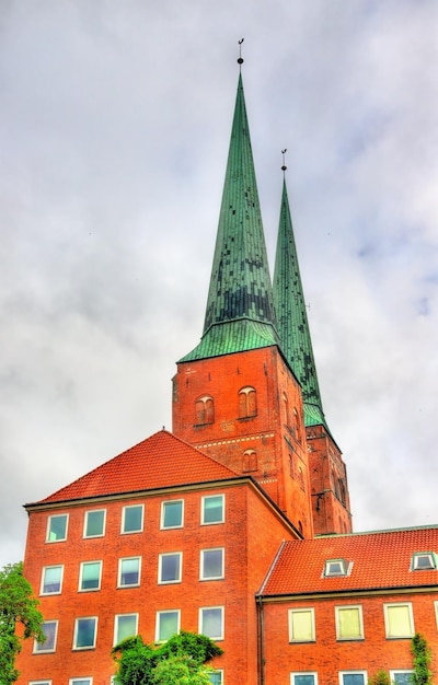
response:
[[[286,170],[285,166],[283,169]],[[306,426],[322,423],[326,427],[298,266],[286,181],[283,182],[275,258],[274,303],[281,350],[301,383]]]

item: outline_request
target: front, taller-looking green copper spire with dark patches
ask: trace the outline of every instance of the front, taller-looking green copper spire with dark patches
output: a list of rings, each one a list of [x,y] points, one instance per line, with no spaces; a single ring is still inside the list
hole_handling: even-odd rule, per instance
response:
[[[181,361],[277,345],[242,76],[200,344]]]

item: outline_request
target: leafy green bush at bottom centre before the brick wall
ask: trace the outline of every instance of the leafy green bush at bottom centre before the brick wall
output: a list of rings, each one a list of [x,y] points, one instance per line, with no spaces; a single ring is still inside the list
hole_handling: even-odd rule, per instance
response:
[[[112,650],[120,685],[205,685],[210,672],[205,663],[221,653],[210,638],[184,630],[160,647],[138,635]]]

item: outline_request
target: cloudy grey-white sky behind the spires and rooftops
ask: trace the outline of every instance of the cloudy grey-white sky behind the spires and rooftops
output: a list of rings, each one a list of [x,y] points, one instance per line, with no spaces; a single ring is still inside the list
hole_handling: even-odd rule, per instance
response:
[[[24,502],[171,428],[241,37],[268,252],[286,147],[355,530],[438,523],[436,0],[3,0],[0,566]]]

